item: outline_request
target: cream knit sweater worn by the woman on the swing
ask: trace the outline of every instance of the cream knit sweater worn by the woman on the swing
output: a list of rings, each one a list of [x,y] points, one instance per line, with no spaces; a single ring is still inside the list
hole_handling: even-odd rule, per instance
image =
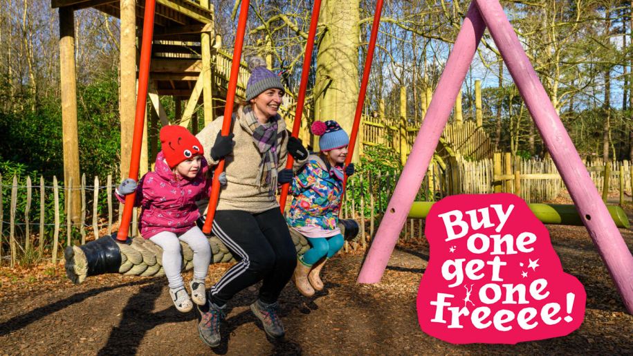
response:
[[[237,120],[244,120],[244,106],[239,106],[237,110]],[[233,140],[235,147],[233,152],[225,158],[224,171],[226,171],[226,179],[228,183],[226,187],[220,190],[220,198],[217,210],[242,210],[257,214],[266,210],[279,207],[275,196],[268,194],[268,188],[265,185],[259,187],[256,184],[257,171],[262,155],[253,142],[253,136],[245,131],[239,122],[232,123],[232,132],[235,134]],[[200,140],[205,152],[205,158],[210,166],[217,165],[218,161],[213,160],[210,156],[211,148],[215,143],[217,133],[222,129],[223,116],[213,120],[196,138]],[[281,135],[286,131],[286,122],[282,118],[277,121],[279,128],[277,133]],[[282,170],[286,166],[286,156],[288,150],[288,133],[284,133],[284,138],[279,147],[279,167]],[[307,160],[307,159],[306,159]],[[306,162],[306,160],[296,161],[293,165],[293,171],[298,171]],[[210,167],[213,168],[213,167]],[[212,169],[210,169],[212,171]],[[199,202],[199,206],[206,205],[205,202]],[[205,212],[206,214],[206,212]]]

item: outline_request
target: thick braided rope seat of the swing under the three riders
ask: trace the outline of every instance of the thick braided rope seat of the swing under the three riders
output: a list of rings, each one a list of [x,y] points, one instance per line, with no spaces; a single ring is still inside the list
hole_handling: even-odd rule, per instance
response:
[[[342,235],[345,236],[345,226],[339,224],[339,227]],[[295,244],[297,254],[304,254],[310,249],[308,241],[302,234],[290,229],[290,235]],[[210,236],[208,241],[211,247],[212,263],[235,261],[231,252],[219,238]],[[141,277],[165,275],[163,270],[163,249],[152,241],[138,236],[132,239],[130,245],[120,244],[118,247],[121,250],[120,274]],[[183,271],[192,270],[194,267],[193,250],[189,245],[181,241],[181,252],[183,256]],[[68,279],[71,279],[76,284],[82,283],[86,279],[88,272],[86,255],[83,250],[78,246],[66,248],[64,257],[66,258],[66,275]]]

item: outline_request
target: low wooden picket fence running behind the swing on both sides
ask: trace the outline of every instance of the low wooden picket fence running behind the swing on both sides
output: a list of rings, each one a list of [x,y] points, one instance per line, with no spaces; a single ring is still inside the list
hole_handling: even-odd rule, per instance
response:
[[[600,161],[587,165],[600,191],[604,184],[604,165]],[[609,181],[613,184],[609,185],[609,191],[619,190],[621,196],[631,194],[630,162],[612,162],[610,166],[613,174],[609,175]],[[350,178],[341,216],[358,221],[360,238],[356,243],[346,244],[346,250],[367,246],[399,176],[400,171],[394,169],[383,172],[359,171]],[[118,200],[113,197],[113,189],[118,182],[112,179],[112,176],[107,176],[105,180],[94,177],[87,182],[84,175],[80,185],[70,181],[68,187],[64,187],[59,185],[55,177],[52,182],[45,182],[40,177],[38,184],[32,182],[31,178],[18,180],[13,176],[10,184],[0,185],[0,262],[8,259],[14,265],[18,256],[33,252],[43,256],[44,252],[50,252],[51,260],[55,263],[65,245],[83,244],[86,238],[113,233],[118,227],[121,210]],[[435,201],[449,194],[518,191],[518,195],[528,203],[538,203],[556,198],[564,188],[551,159],[512,160],[509,153],[495,153],[493,159],[477,161],[458,157],[447,162],[444,167],[432,162],[415,200]],[[71,216],[65,214],[74,196],[67,193],[72,190],[79,190],[81,196],[82,209],[78,221],[71,221]],[[289,204],[286,206],[289,207]],[[138,234],[136,216],[135,213],[131,236]],[[421,238],[423,230],[421,219],[408,219],[401,238]]]

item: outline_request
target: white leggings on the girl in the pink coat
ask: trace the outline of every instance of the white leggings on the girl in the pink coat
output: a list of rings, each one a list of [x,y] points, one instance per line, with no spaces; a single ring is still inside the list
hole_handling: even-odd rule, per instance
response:
[[[194,251],[194,279],[204,281],[211,262],[211,246],[207,237],[199,227],[194,226],[180,236],[173,232],[163,231],[149,238],[163,249],[163,270],[169,281],[169,288],[181,288],[183,282],[181,244],[180,239]]]

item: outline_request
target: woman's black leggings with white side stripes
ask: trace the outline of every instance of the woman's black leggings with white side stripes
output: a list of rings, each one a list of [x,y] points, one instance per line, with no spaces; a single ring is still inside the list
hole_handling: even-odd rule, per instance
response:
[[[263,279],[259,299],[275,303],[297,265],[297,251],[279,208],[259,214],[219,210],[212,232],[239,262],[212,286],[210,300],[223,306],[237,292]]]

